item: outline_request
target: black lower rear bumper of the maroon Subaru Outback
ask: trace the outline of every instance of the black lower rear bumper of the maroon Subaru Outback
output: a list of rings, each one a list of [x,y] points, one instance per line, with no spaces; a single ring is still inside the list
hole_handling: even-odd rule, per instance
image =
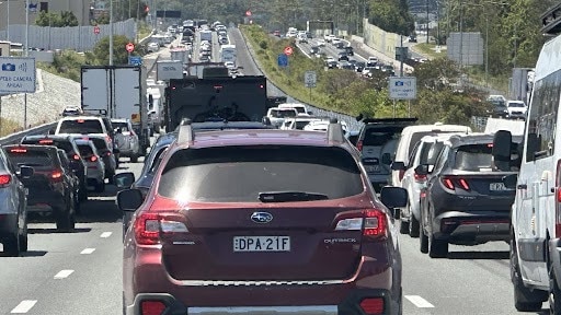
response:
[[[219,296],[219,295],[216,295]],[[142,293],[135,298],[133,305],[126,306],[127,315],[139,315],[145,301],[160,301],[165,304],[167,315],[230,315],[230,314],[260,314],[260,315],[365,315],[359,304],[364,299],[378,298],[383,301],[383,313],[399,314],[401,299],[392,296],[387,290],[356,290],[341,304],[332,305],[270,305],[270,306],[192,306],[187,307],[173,295],[167,293]],[[400,296],[399,296],[400,298]]]

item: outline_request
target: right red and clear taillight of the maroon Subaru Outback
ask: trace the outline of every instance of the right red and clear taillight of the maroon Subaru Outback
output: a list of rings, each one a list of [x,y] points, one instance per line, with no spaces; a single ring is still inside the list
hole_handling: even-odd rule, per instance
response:
[[[341,219],[335,231],[363,231],[363,235],[370,237],[385,237],[388,235],[386,213],[373,209],[357,212],[353,218]]]

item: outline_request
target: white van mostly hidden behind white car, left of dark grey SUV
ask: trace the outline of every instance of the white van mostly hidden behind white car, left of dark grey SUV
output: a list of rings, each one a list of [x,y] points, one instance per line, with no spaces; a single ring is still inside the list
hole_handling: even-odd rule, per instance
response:
[[[401,187],[401,179],[403,178],[404,170],[409,165],[409,159],[416,142],[425,136],[436,136],[438,133],[447,132],[471,132],[471,128],[461,125],[444,125],[436,122],[434,125],[415,125],[403,128],[401,137],[396,149],[396,156],[393,163],[402,162],[405,167],[392,166],[391,171],[391,185]],[[399,170],[393,170],[399,168]]]

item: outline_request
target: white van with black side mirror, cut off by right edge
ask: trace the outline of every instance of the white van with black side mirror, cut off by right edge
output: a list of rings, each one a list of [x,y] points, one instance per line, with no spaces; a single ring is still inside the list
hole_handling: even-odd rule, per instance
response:
[[[554,18],[561,4],[542,21]],[[546,25],[558,32],[560,25]],[[553,34],[551,34],[553,35]],[[554,34],[558,35],[558,34]],[[518,311],[539,312],[549,300],[550,314],[561,314],[561,36],[547,42],[536,65],[520,170],[504,178],[516,189],[512,207],[511,279]],[[496,163],[513,163],[508,156],[510,131],[497,131],[493,141]]]

